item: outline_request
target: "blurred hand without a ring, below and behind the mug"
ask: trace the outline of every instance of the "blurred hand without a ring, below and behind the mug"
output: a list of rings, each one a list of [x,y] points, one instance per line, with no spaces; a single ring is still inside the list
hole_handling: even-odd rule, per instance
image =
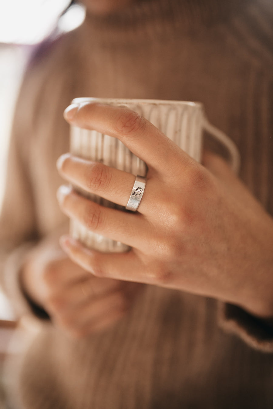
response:
[[[52,321],[73,337],[113,325],[129,310],[139,283],[97,278],[70,260],[59,236],[46,238],[31,252],[21,271],[25,293]]]

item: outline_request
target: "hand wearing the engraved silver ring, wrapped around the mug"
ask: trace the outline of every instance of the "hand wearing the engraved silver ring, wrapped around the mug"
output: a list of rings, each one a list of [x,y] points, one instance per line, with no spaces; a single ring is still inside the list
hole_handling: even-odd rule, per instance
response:
[[[273,316],[273,219],[223,159],[206,152],[205,166],[199,164],[125,108],[84,103],[68,107],[65,118],[117,137],[148,166],[135,213],[100,206],[71,187],[60,187],[66,215],[132,247],[106,254],[62,236],[73,261],[100,278],[202,294],[259,317]],[[57,166],[69,182],[126,206],[134,175],[71,154],[62,155]]]

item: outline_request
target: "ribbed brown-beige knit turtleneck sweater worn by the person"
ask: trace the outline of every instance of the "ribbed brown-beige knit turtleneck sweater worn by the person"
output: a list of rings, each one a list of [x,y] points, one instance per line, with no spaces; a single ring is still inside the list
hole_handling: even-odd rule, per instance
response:
[[[35,52],[0,217],[2,285],[18,317],[39,324],[13,362],[12,408],[273,407],[273,330],[237,306],[147,285],[124,319],[75,341],[18,284],[28,249],[68,231],[56,159],[69,150],[63,110],[74,97],[203,102],[239,148],[240,178],[273,214],[272,43],[271,0],[144,0],[87,16]]]

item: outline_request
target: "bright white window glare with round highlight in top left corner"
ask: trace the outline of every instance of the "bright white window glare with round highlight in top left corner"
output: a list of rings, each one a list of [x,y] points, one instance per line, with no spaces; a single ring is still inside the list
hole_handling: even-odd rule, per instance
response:
[[[0,0],[0,43],[36,44],[55,28],[70,0]],[[61,16],[58,31],[70,31],[83,22],[85,9],[73,4]]]

